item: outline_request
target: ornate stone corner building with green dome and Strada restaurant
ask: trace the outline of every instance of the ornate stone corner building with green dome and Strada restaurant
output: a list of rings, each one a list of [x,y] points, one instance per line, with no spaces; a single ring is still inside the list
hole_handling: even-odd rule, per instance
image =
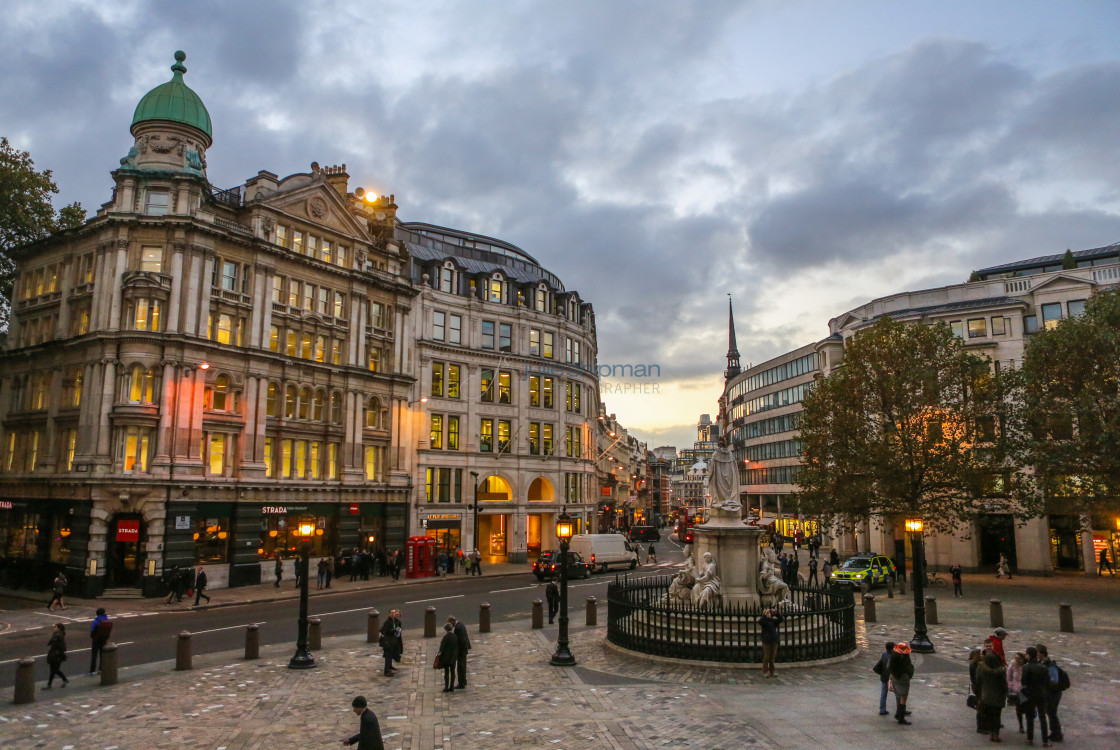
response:
[[[75,593],[150,596],[165,568],[197,562],[212,585],[255,583],[308,516],[312,554],[404,542],[418,292],[396,206],[349,193],[345,166],[213,189],[211,119],[184,58],[137,106],[96,216],[16,253],[7,582],[64,569]],[[582,330],[589,310],[572,309],[558,329]],[[511,306],[502,320],[535,315]]]

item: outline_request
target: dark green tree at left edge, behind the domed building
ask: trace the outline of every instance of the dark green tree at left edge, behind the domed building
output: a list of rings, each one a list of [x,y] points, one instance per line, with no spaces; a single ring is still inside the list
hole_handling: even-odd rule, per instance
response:
[[[50,195],[58,186],[50,170],[36,171],[31,154],[13,149],[0,138],[0,328],[7,328],[16,263],[13,247],[85,221],[81,204],[71,204],[55,216]]]

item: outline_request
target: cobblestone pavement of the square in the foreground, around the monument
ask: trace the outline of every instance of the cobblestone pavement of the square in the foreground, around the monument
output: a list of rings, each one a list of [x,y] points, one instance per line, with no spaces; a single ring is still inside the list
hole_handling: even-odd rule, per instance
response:
[[[66,690],[39,692],[34,704],[0,705],[0,744],[12,750],[338,747],[356,731],[349,700],[364,694],[390,750],[989,747],[973,731],[964,696],[968,649],[990,630],[991,589],[1005,603],[1008,650],[1046,643],[1070,672],[1073,687],[1061,709],[1066,744],[1117,747],[1120,585],[1016,581],[967,581],[970,598],[962,600],[937,592],[945,625],[930,629],[937,653],[915,659],[912,726],[877,715],[879,685],[869,667],[881,640],[909,637],[913,599],[877,592],[879,622],[860,621],[856,658],[805,668],[780,663],[777,679],[762,679],[753,669],[622,654],[605,644],[604,628],[575,628],[579,665],[551,667],[556,631],[530,630],[525,622],[472,634],[469,688],[445,694],[441,673],[430,667],[438,640],[412,629],[405,631],[405,664],[392,678],[381,676],[380,653],[358,637],[328,639],[316,654],[318,667],[302,672],[287,668],[289,646],[264,649],[254,662],[240,654],[196,657],[192,672],[172,672],[170,664],[127,669],[113,687],[74,677]],[[1058,599],[1074,600],[1080,632],[1056,632]],[[1005,743],[1023,744],[1012,712],[1005,712],[1004,723]]]

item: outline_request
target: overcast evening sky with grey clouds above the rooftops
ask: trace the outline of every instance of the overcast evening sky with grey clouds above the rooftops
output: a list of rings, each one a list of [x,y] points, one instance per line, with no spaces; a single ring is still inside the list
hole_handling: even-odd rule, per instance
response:
[[[186,82],[218,187],[343,163],[591,301],[650,447],[868,299],[1120,240],[1120,3],[7,0],[0,134],[108,200],[137,101]],[[616,378],[606,378],[612,390]]]

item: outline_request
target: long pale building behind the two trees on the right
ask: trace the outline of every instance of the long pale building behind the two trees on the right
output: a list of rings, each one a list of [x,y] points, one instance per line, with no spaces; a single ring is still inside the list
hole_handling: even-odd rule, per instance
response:
[[[724,400],[728,433],[740,461],[744,506],[787,528],[806,521],[799,516],[795,496],[801,400],[814,377],[828,376],[840,364],[847,339],[881,316],[945,324],[965,347],[990,357],[993,366],[1016,367],[1032,334],[1080,315],[1096,291],[1120,285],[1120,244],[1072,255],[1074,268],[1063,268],[1061,254],[1047,255],[982,269],[965,283],[872,300],[830,320],[828,338],[741,372],[732,327]],[[1088,521],[1091,532],[1080,531],[1081,518],[1070,515],[1019,523],[1009,513],[991,513],[956,535],[930,538],[926,557],[942,568],[959,563],[979,570],[990,569],[1006,554],[1023,572],[1092,571],[1101,546],[1109,546],[1116,559],[1120,526],[1116,517]],[[846,552],[900,553],[905,537],[900,524],[902,519],[868,524],[862,533],[838,543]]]

